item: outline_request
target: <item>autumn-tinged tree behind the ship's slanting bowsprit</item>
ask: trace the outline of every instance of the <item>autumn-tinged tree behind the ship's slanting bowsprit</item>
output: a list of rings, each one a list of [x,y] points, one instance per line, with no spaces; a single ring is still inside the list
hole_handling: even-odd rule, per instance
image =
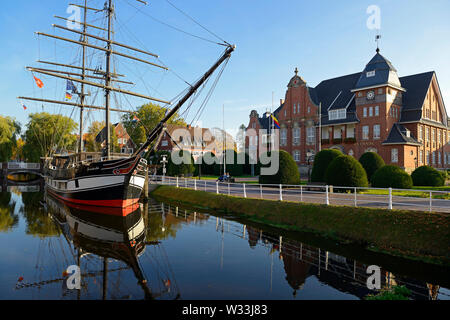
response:
[[[147,134],[149,134],[147,130],[152,130],[164,118],[166,112],[166,108],[148,103],[140,106],[133,114],[124,114],[122,123],[133,142],[139,146],[147,141]],[[175,113],[167,123],[186,126],[186,122],[178,113]]]

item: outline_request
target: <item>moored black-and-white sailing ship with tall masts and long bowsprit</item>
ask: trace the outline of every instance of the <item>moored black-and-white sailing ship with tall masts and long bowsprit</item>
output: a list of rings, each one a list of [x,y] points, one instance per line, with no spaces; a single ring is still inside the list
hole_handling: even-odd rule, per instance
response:
[[[146,4],[145,1],[142,0],[135,1],[138,1],[139,3],[144,5]],[[190,99],[197,93],[199,88],[201,88],[202,85],[205,84],[205,82],[211,77],[214,71],[219,68],[219,66],[221,66],[222,64],[226,65],[224,62],[228,62],[231,53],[235,50],[235,46],[230,45],[229,43],[224,41],[224,43],[222,43],[221,45],[225,46],[225,51],[220,56],[220,58],[203,74],[203,76],[200,77],[199,80],[197,80],[194,84],[190,84],[187,92],[179,100],[177,100],[177,103],[174,104],[172,108],[167,108],[166,115],[154,128],[148,129],[147,140],[145,141],[145,143],[143,143],[139,148],[137,148],[137,150],[134,151],[133,154],[129,156],[121,155],[120,157],[115,157],[111,153],[112,144],[110,132],[110,112],[124,111],[122,109],[111,108],[111,93],[125,94],[147,99],[150,101],[156,101],[166,104],[167,106],[171,106],[172,103],[140,93],[124,90],[119,88],[117,85],[115,86],[115,83],[124,81],[119,80],[118,77],[120,75],[112,69],[112,56],[121,56],[165,70],[168,70],[168,68],[145,59],[137,58],[136,55],[128,55],[116,50],[116,48],[125,48],[142,55],[158,57],[158,55],[154,53],[139,48],[134,48],[127,44],[119,43],[113,40],[113,19],[116,15],[113,0],[107,0],[103,9],[88,7],[87,0],[84,0],[84,5],[75,6],[84,10],[83,22],[79,23],[82,26],[81,31],[57,24],[54,24],[53,27],[80,36],[80,41],[46,34],[43,32],[37,32],[37,34],[44,37],[56,39],[58,41],[69,42],[71,44],[81,46],[81,66],[40,60],[38,62],[63,68],[80,70],[81,73],[69,72],[67,70],[50,70],[38,67],[27,67],[27,69],[32,72],[33,75],[34,73],[38,73],[66,80],[68,86],[70,85],[71,87],[73,87],[73,82],[80,83],[81,92],[76,92],[76,90],[74,90],[79,97],[77,103],[32,97],[18,97],[18,99],[80,108],[80,132],[78,151],[63,155],[52,154],[43,159],[44,179],[48,193],[61,200],[68,201],[74,204],[119,208],[127,207],[139,201],[144,187],[145,174],[147,170],[147,161],[144,159],[144,155],[149,151],[150,148],[154,148],[156,146],[155,142],[162,135],[166,122],[180,110],[180,108],[188,101],[188,99]],[[87,14],[89,11],[94,11],[97,14],[105,14],[107,27],[100,28],[98,26],[88,24]],[[65,18],[61,19],[68,20]],[[93,30],[93,28],[95,28],[95,30],[103,30],[104,33],[106,33],[106,37],[100,37],[89,33],[89,30]],[[95,39],[96,41],[100,41],[104,43],[105,46],[93,45],[89,43],[88,39]],[[90,69],[86,66],[87,48],[104,52],[104,61],[106,66],[105,71],[102,71],[102,69],[100,68]],[[93,74],[90,72],[93,72]],[[101,82],[99,83],[93,80],[91,81],[90,79],[101,80]],[[86,94],[85,86],[93,86],[104,91],[104,106],[93,106],[86,103],[86,97],[88,96],[88,94]],[[83,154],[83,111],[86,109],[103,110],[105,112],[105,145],[100,158],[90,159],[86,156],[86,154]],[[106,210],[106,213],[112,215],[117,214],[117,212],[119,212],[120,215],[125,215],[128,211]]]

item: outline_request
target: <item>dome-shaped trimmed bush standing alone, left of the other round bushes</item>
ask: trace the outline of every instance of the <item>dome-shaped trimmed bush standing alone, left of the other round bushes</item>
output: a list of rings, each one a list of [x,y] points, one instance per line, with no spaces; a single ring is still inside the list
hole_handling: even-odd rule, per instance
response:
[[[298,171],[297,164],[292,156],[284,151],[272,151],[279,153],[279,168],[278,172],[274,175],[260,175],[260,184],[300,184],[300,172]],[[261,168],[269,167],[268,165],[261,165]]]

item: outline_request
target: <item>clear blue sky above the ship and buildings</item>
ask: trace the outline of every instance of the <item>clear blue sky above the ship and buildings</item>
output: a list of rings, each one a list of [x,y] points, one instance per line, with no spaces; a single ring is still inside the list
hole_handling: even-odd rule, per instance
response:
[[[73,0],[81,3],[81,0]],[[70,2],[70,3],[72,3]],[[89,0],[89,6],[101,8],[104,1]],[[127,59],[115,59],[117,72],[127,74],[126,80],[135,81],[133,87],[123,86],[164,99],[171,99],[186,84],[178,77],[193,82],[223,50],[216,44],[190,37],[156,22],[164,21],[192,34],[218,41],[214,36],[194,24],[171,7],[166,0],[148,0],[142,7],[135,0],[116,0],[116,40],[158,53],[160,59],[173,70],[130,63]],[[171,0],[177,7],[198,20],[202,25],[237,49],[217,85],[205,111],[203,126],[222,127],[222,105],[225,105],[226,128],[247,125],[252,109],[264,112],[275,108],[284,98],[286,85],[298,67],[299,74],[309,86],[320,81],[360,72],[375,54],[376,31],[369,30],[366,10],[370,5],[381,9],[381,53],[397,68],[399,76],[434,70],[449,110],[450,105],[450,2],[448,0],[413,1],[300,1],[300,0]],[[25,124],[29,113],[42,110],[60,112],[77,117],[71,108],[41,103],[25,102],[24,111],[17,101],[19,95],[50,99],[64,99],[65,82],[46,76],[38,76],[44,89],[38,89],[25,66],[37,66],[37,59],[75,62],[79,48],[57,43],[34,32],[42,31],[76,39],[77,36],[51,27],[65,22],[54,15],[69,17],[66,12],[69,1],[15,0],[5,1],[0,13],[0,114],[15,117]],[[130,5],[132,4],[132,5]],[[149,15],[151,15],[151,18]],[[99,14],[91,13],[89,22],[101,25]],[[138,40],[136,40],[138,39]],[[77,47],[77,46],[75,46]],[[126,50],[118,49],[126,52]],[[103,62],[101,56],[93,56],[89,65]],[[140,56],[143,57],[143,56]],[[152,60],[157,62],[156,60]],[[41,65],[41,67],[50,67]],[[207,90],[207,89],[205,89]],[[206,93],[206,92],[205,92]],[[94,100],[100,105],[101,93]],[[202,102],[201,96],[187,116],[192,120]],[[113,105],[130,109],[143,100],[134,98],[114,99]],[[448,111],[447,111],[448,112]],[[99,112],[89,114],[88,122],[101,119]],[[114,115],[113,120],[117,120]]]

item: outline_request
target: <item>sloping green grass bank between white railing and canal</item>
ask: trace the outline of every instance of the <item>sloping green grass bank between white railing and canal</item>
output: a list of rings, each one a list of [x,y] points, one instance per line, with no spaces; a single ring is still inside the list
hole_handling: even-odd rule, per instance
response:
[[[159,186],[152,195],[394,256],[450,265],[450,215],[442,213],[244,199],[170,186]]]

